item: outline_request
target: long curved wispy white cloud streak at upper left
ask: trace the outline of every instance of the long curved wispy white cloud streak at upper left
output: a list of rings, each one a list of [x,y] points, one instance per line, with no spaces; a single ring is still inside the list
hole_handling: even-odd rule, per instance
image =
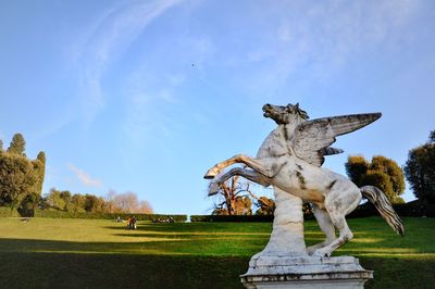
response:
[[[85,120],[92,121],[104,106],[101,80],[109,65],[135,41],[150,22],[181,0],[135,1],[107,11],[74,47],[73,61]]]

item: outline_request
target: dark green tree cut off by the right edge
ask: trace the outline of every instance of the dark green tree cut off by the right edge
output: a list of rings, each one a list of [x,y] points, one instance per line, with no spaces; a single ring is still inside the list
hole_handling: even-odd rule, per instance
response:
[[[435,130],[428,142],[409,151],[403,169],[414,196],[422,202],[435,203]]]

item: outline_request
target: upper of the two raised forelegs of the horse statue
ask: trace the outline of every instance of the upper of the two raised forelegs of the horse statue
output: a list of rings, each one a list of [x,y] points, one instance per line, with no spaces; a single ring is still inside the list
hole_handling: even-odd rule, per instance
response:
[[[216,165],[214,165],[212,168],[210,168],[207,174],[204,175],[204,178],[214,178],[216,175],[219,175],[219,173],[221,173],[221,171],[232,164],[236,164],[236,163],[241,163],[245,164],[247,166],[249,166],[250,168],[252,168],[253,171],[262,174],[265,177],[272,178],[275,176],[275,174],[277,172],[279,172],[281,167],[283,167],[283,165],[285,164],[285,162],[281,162],[279,165],[265,165],[263,162],[261,162],[258,159],[253,159],[244,154],[237,154],[226,161],[223,161]],[[276,163],[276,161],[275,161]]]

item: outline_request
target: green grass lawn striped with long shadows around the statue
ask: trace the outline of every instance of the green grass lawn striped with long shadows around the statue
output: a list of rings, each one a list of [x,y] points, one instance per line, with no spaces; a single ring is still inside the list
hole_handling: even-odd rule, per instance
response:
[[[138,223],[0,218],[0,288],[243,288],[238,275],[269,240],[268,223]],[[435,288],[435,218],[349,219],[355,239],[335,252],[374,271],[368,288]],[[307,244],[323,240],[306,222]]]

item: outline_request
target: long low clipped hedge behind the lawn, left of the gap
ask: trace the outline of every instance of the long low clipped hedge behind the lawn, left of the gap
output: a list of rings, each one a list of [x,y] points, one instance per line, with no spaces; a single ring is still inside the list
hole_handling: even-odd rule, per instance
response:
[[[115,219],[121,217],[126,219],[129,216],[135,216],[138,221],[152,221],[152,222],[166,222],[171,218],[174,222],[186,222],[187,215],[162,215],[162,214],[112,214],[112,213],[74,213],[64,211],[49,211],[49,210],[36,210],[36,217],[51,217],[51,218],[104,218]]]

